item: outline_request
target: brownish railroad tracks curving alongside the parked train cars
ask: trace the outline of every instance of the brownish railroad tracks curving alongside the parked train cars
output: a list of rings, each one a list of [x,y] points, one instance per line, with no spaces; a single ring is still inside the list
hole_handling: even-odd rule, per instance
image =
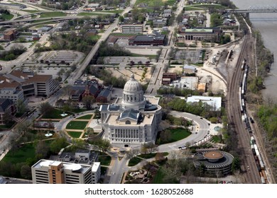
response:
[[[261,183],[258,168],[254,156],[251,152],[249,144],[250,135],[249,132],[244,128],[244,122],[241,120],[241,111],[239,107],[239,85],[243,77],[241,71],[241,63],[247,56],[247,48],[249,47],[249,38],[251,35],[247,34],[244,37],[244,42],[241,47],[241,53],[239,54],[237,65],[234,69],[231,81],[229,81],[227,91],[227,116],[229,122],[234,123],[234,128],[237,132],[238,147],[241,151],[241,169],[245,176],[246,183]]]

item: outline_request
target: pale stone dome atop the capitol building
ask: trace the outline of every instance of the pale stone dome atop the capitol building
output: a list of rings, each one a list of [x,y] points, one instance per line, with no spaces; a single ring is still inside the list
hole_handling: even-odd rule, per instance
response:
[[[134,74],[131,74],[129,81],[126,82],[122,95],[122,107],[124,109],[134,108],[136,110],[144,109],[146,101],[144,100],[141,83],[136,81]]]

